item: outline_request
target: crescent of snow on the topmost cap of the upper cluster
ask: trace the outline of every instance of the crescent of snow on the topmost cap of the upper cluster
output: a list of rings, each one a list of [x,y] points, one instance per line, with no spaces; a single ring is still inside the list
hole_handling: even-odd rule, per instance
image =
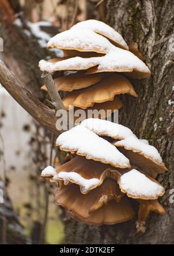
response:
[[[102,34],[103,36],[110,38],[111,40],[115,41],[115,43],[122,45],[122,47],[124,47],[126,50],[129,49],[121,34],[119,34],[117,31],[115,31],[112,27],[108,26],[107,24],[100,22],[99,20],[85,20],[84,22],[79,22],[75,24],[73,27],[71,27],[71,29],[74,28],[93,30],[96,33]]]

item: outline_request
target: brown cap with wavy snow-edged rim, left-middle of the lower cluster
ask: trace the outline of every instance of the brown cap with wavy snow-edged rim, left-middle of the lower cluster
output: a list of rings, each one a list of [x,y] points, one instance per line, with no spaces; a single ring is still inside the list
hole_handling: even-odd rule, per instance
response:
[[[48,167],[47,167],[48,168]],[[106,178],[117,180],[119,169],[115,169],[109,164],[103,164],[93,160],[88,160],[82,156],[75,156],[67,163],[58,167],[55,173],[45,170],[42,171],[42,177],[53,177],[53,180],[63,181],[60,187],[70,183],[78,184],[82,194],[87,194],[90,190],[100,186]],[[49,175],[50,174],[50,175]]]

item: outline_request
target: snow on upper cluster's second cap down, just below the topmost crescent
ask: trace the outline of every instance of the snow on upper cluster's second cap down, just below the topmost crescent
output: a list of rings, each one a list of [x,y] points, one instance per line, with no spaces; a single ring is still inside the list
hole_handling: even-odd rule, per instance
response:
[[[114,45],[107,38],[88,29],[70,29],[50,38],[49,48],[107,53]]]

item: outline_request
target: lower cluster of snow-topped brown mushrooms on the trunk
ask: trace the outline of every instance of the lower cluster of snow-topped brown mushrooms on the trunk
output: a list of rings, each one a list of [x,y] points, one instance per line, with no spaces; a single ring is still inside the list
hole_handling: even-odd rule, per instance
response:
[[[71,217],[92,225],[126,222],[139,204],[137,232],[145,232],[150,211],[165,213],[158,202],[164,187],[155,178],[167,169],[158,150],[131,129],[89,118],[56,141],[73,158],[42,177],[57,182],[55,202]]]

